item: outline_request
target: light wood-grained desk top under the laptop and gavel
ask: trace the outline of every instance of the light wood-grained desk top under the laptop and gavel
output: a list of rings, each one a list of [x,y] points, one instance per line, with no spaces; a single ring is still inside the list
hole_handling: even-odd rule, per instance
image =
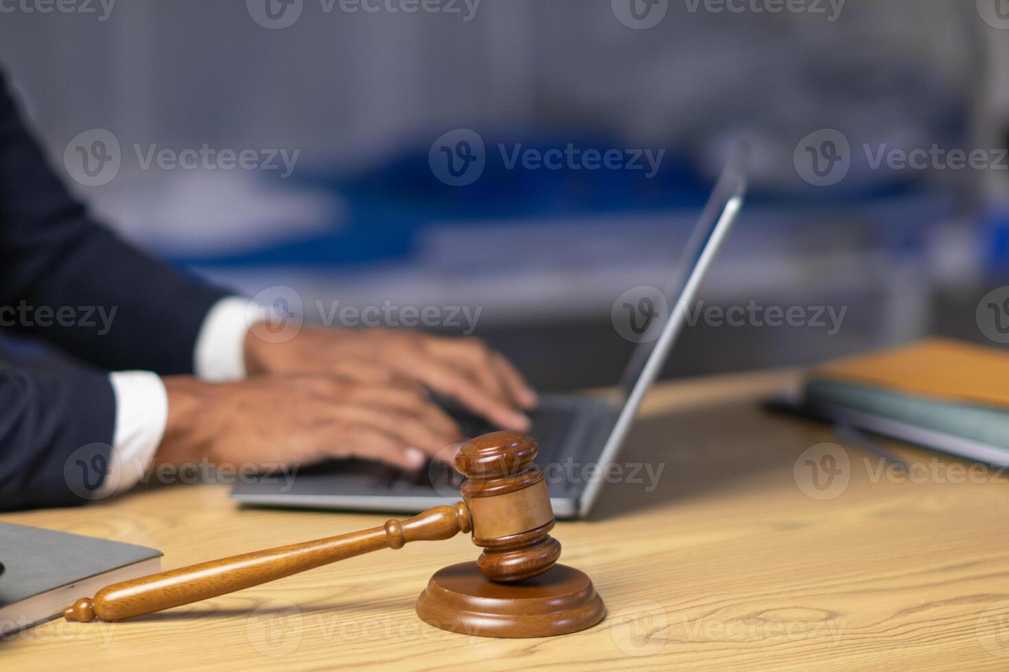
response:
[[[651,395],[624,459],[664,462],[659,486],[607,486],[596,520],[555,532],[562,560],[606,600],[589,631],[489,640],[420,623],[414,600],[429,575],[476,555],[460,536],[133,622],[55,621],[0,644],[0,657],[10,670],[1009,668],[1009,477],[951,483],[959,472],[943,469],[955,462],[904,449],[930,472],[895,483],[849,449],[847,488],[813,499],[797,486],[809,490],[809,453],[797,458],[835,439],[757,406],[790,380],[706,379]],[[238,509],[226,491],[163,487],[2,518],[154,546],[165,568],[386,518]]]

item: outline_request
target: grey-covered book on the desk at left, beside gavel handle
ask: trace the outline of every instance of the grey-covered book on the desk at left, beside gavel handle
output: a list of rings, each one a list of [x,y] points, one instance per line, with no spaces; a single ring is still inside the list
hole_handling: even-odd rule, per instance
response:
[[[79,597],[160,571],[161,552],[0,523],[0,636],[49,621]]]

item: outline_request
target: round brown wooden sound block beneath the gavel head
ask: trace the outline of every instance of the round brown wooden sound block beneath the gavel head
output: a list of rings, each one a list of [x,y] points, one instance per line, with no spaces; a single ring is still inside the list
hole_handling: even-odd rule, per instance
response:
[[[606,609],[588,576],[563,564],[514,583],[491,581],[475,562],[439,570],[417,600],[436,628],[479,637],[551,637],[591,628]]]

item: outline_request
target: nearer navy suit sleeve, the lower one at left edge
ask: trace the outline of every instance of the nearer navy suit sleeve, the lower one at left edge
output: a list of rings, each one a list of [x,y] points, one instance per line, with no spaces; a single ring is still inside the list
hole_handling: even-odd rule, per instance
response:
[[[0,370],[0,510],[94,499],[114,425],[105,374]]]

